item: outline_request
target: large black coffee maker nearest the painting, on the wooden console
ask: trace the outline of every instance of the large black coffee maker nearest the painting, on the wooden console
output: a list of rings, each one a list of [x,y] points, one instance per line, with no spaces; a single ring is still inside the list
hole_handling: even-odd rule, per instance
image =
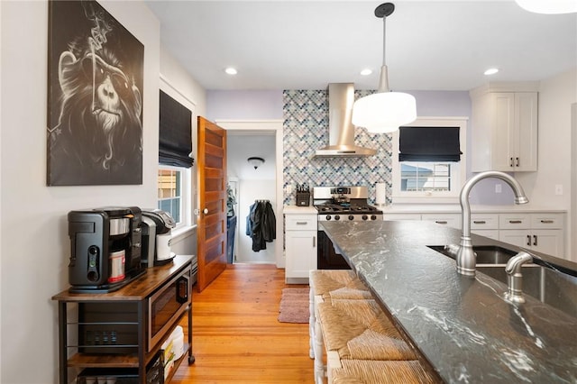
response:
[[[71,292],[111,292],[145,271],[139,207],[71,211],[68,218]]]

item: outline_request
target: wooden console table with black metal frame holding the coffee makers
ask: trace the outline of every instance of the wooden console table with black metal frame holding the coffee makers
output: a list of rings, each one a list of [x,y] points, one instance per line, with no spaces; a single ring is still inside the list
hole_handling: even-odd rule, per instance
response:
[[[176,318],[167,321],[166,328],[162,328],[163,336],[160,342],[149,348],[148,333],[149,331],[149,299],[161,288],[169,285],[171,280],[179,276],[183,271],[188,269],[190,275],[192,256],[178,255],[174,261],[168,265],[153,267],[146,270],[141,277],[134,279],[125,287],[109,293],[70,293],[64,290],[58,295],[52,297],[52,300],[59,302],[59,369],[60,383],[69,382],[69,369],[81,370],[84,368],[130,368],[138,372],[138,381],[146,383],[146,367],[160,352],[160,347],[174,328],[179,325],[179,321],[185,314],[188,314],[188,343],[184,345],[183,355],[178,361],[175,361],[169,377],[169,382],[174,372],[179,368],[180,363],[186,358],[188,352],[188,364],[192,364],[195,358],[192,354],[192,287],[188,280],[188,302],[186,309]],[[187,272],[185,272],[187,273]],[[125,303],[127,306],[133,306],[136,309],[136,320],[128,324],[133,326],[137,333],[137,345],[126,345],[123,348],[133,350],[131,353],[86,353],[78,352],[87,348],[86,345],[70,343],[72,335],[78,333],[78,306],[82,303]],[[105,325],[114,324],[102,323]],[[70,327],[70,329],[69,329]],[[69,333],[69,331],[72,331]],[[162,331],[161,331],[162,332]],[[79,334],[78,334],[79,337]],[[78,372],[77,372],[78,375]]]

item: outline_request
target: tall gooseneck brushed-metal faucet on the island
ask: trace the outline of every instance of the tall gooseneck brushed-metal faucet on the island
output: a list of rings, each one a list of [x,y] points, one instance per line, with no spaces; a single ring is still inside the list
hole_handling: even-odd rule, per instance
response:
[[[467,180],[463,189],[461,189],[461,195],[459,197],[461,200],[461,226],[463,228],[461,244],[458,251],[454,245],[447,246],[449,248],[453,247],[453,252],[456,253],[457,272],[465,276],[475,276],[476,265],[476,257],[472,251],[471,242],[471,206],[469,206],[469,194],[472,187],[483,178],[500,178],[505,181],[515,193],[515,204],[527,204],[529,202],[529,199],[525,196],[523,187],[521,187],[515,178],[512,178],[507,173],[499,172],[498,170],[488,170]]]

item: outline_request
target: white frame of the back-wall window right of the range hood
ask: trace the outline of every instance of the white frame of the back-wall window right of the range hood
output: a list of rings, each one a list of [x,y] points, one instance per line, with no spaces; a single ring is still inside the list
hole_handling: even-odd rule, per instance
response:
[[[398,131],[392,134],[392,156],[391,156],[391,199],[393,203],[398,204],[423,204],[423,203],[446,203],[454,204],[459,202],[461,188],[466,181],[467,175],[467,117],[418,117],[413,123],[403,126],[419,127],[459,127],[459,144],[461,146],[461,161],[458,166],[452,166],[451,172],[454,176],[454,183],[451,191],[402,191],[401,187],[401,169],[398,161]],[[410,161],[408,161],[410,162]],[[414,161],[413,161],[414,162]],[[449,161],[439,161],[449,162]]]

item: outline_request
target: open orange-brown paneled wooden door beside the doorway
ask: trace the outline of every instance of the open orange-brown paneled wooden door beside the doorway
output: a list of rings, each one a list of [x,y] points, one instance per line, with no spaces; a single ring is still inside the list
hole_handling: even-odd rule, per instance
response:
[[[226,131],[198,116],[197,288],[226,269]]]

